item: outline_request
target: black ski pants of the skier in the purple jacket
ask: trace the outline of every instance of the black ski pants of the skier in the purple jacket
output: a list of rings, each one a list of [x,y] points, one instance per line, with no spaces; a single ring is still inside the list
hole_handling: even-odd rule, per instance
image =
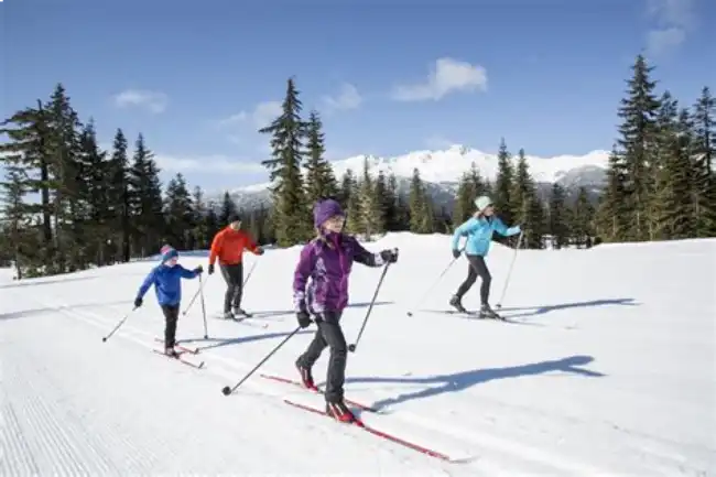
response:
[[[325,392],[327,402],[343,402],[344,395],[348,345],[346,345],[346,337],[340,328],[340,312],[325,312],[316,315],[318,329],[306,351],[296,361],[299,366],[311,369],[323,350],[330,347]]]

